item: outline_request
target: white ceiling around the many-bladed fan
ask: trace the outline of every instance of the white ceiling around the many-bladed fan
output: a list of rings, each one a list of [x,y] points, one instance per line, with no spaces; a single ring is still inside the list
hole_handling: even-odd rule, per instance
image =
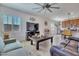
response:
[[[36,14],[39,16],[48,17],[50,19],[61,20],[68,18],[68,13],[71,13],[69,17],[79,17],[79,3],[58,3],[54,6],[59,6],[60,9],[53,9],[53,12],[50,13],[46,10],[42,12],[38,12],[39,9],[34,10],[33,8],[40,7],[33,3],[4,3],[2,4],[6,7],[13,8],[16,10],[20,10],[23,12],[28,12],[32,14]]]

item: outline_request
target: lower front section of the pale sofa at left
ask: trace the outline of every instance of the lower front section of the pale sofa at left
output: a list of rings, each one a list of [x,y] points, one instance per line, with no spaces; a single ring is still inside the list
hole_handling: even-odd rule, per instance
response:
[[[26,51],[24,48],[19,48],[16,50],[9,51],[7,53],[2,53],[1,55],[2,56],[28,56],[29,52]]]

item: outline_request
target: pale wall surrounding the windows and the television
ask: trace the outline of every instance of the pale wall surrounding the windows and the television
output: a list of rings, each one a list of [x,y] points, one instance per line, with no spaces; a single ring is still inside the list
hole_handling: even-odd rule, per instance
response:
[[[10,32],[11,37],[16,38],[17,40],[25,40],[25,37],[26,37],[26,22],[29,20],[30,16],[33,16],[34,18],[36,18],[36,20],[34,21],[35,23],[39,23],[40,34],[43,34],[43,32],[44,32],[44,28],[45,28],[44,21],[47,20],[48,24],[49,24],[49,20],[46,19],[46,18],[41,18],[41,17],[38,17],[38,16],[26,14],[26,13],[23,13],[23,12],[14,10],[14,9],[10,9],[10,8],[7,8],[7,7],[0,7],[0,8],[1,8],[1,10],[0,10],[1,13],[8,14],[8,15],[20,16],[22,18],[19,31],[11,31]],[[0,19],[0,29],[3,27],[2,23],[3,23],[2,19]],[[49,27],[49,26],[50,25],[48,25],[47,27]],[[3,31],[3,29],[1,29],[0,31]]]

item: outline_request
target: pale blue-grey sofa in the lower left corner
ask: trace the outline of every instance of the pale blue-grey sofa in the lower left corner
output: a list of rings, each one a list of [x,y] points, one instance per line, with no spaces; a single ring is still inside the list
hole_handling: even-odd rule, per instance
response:
[[[5,44],[0,37],[0,55],[1,56],[26,56],[26,50],[19,41]]]

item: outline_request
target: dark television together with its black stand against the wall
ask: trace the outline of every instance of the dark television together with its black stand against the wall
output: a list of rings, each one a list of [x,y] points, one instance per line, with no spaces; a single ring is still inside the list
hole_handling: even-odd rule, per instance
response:
[[[36,33],[39,33],[39,24],[38,23],[31,23],[27,22],[26,23],[26,33],[27,33],[27,40],[29,41],[29,36],[33,36]]]

